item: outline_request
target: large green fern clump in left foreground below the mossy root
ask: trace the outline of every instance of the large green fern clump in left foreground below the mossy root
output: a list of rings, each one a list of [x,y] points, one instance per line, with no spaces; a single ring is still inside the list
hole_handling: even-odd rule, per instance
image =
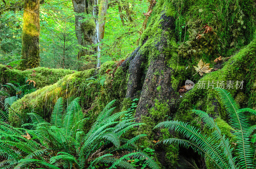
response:
[[[140,158],[145,165],[154,169],[159,168],[144,152],[130,153],[121,158],[106,154],[106,152],[137,151],[135,142],[147,136],[141,134],[129,140],[123,137],[131,128],[142,125],[132,122],[133,117],[118,121],[121,115],[130,111],[113,114],[115,110],[113,105],[116,101],[113,100],[101,111],[91,129],[85,133],[83,129],[88,118],[84,118],[79,100],[80,98],[76,98],[71,101],[63,112],[63,99],[59,98],[54,106],[50,123],[36,113],[28,113],[31,123],[23,125],[27,129],[13,128],[9,124],[0,122],[0,151],[7,160],[4,166],[18,168],[39,165],[70,169],[73,165],[76,168],[85,168],[89,163],[89,168],[92,168],[97,163],[108,163],[112,164],[110,168],[115,166],[134,168],[124,159],[136,155],[136,158]],[[27,130],[26,135],[23,137],[25,130]],[[57,155],[53,152],[57,152]]]

